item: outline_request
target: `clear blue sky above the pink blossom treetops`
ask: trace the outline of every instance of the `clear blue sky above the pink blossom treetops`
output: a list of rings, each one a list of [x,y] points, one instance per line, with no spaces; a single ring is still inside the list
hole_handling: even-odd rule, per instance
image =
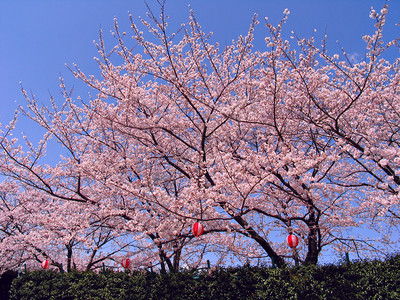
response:
[[[148,0],[157,10],[155,0]],[[286,32],[294,30],[300,37],[308,37],[313,29],[319,36],[325,27],[329,48],[339,52],[336,41],[348,53],[363,53],[361,36],[371,33],[369,19],[371,5],[380,10],[384,0],[168,0],[167,13],[171,24],[187,20],[188,4],[205,31],[213,31],[215,40],[229,43],[239,34],[245,34],[253,13],[258,13],[276,24],[285,8],[291,11]],[[109,30],[117,17],[122,31],[129,31],[128,11],[134,17],[144,16],[143,0],[2,0],[0,1],[0,122],[7,123],[17,104],[23,104],[20,93],[32,91],[40,101],[47,103],[49,95],[59,97],[58,77],[66,78],[67,86],[79,86],[65,64],[78,66],[87,73],[95,73],[97,55],[93,40],[98,39],[101,27],[108,46],[113,46]],[[400,1],[389,2],[386,32],[388,38],[400,36]],[[256,48],[264,47],[264,26],[258,26]],[[394,53],[392,55],[397,55]],[[87,91],[77,89],[82,97]],[[78,95],[75,94],[75,96]],[[60,99],[61,100],[61,99]],[[17,103],[17,104],[16,104]]]

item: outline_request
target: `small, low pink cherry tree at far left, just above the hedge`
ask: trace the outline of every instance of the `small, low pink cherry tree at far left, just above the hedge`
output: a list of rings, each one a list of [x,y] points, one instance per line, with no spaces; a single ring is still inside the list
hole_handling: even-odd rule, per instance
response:
[[[95,221],[87,206],[49,199],[21,184],[2,183],[2,268],[38,268],[47,259],[60,271],[89,270],[130,247],[124,235]],[[106,251],[103,251],[107,247]]]

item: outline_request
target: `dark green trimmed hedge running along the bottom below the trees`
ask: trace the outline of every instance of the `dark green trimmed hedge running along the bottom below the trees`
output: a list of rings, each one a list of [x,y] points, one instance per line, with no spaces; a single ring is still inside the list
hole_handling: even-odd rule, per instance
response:
[[[192,271],[28,272],[10,299],[400,299],[400,256],[350,265]]]

